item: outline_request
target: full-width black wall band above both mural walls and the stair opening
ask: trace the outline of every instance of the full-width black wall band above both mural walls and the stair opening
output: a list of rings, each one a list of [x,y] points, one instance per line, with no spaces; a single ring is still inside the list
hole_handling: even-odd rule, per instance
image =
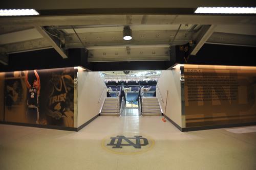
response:
[[[191,49],[190,49],[191,50]],[[256,66],[253,62],[256,47],[204,44],[196,56],[189,56],[188,64]],[[189,53],[180,51],[179,46],[172,46],[170,61],[136,62],[98,62],[88,63],[88,55],[83,48],[68,50],[68,59],[53,49],[9,55],[9,65],[0,64],[0,71],[31,70],[83,66],[92,71],[110,70],[164,70],[175,63],[186,63]]]

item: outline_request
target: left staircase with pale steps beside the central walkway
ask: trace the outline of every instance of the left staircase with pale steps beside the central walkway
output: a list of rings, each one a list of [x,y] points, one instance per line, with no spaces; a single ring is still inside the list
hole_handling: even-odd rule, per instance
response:
[[[101,116],[119,116],[119,98],[106,98],[101,109]]]

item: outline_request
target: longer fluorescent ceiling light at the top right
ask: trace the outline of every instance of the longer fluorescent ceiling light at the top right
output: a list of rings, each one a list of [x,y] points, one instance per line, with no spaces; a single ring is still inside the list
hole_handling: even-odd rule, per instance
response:
[[[256,14],[255,7],[198,7],[195,13]]]

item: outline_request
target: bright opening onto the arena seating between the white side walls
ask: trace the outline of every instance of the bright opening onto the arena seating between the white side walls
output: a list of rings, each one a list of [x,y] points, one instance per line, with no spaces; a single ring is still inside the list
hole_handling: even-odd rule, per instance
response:
[[[101,72],[107,88],[107,98],[119,102],[120,116],[140,116],[143,111],[160,110],[159,105],[155,106],[152,101],[144,104],[143,108],[143,100],[156,98],[156,85],[160,74],[160,70]]]

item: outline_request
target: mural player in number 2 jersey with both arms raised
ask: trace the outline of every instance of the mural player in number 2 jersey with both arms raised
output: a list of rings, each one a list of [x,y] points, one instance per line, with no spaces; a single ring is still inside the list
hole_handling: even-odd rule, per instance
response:
[[[26,71],[26,86],[28,88],[27,120],[30,124],[39,124],[38,97],[40,95],[40,78],[36,70],[34,70],[34,74],[36,80],[33,81],[31,86],[28,81],[28,71]]]

